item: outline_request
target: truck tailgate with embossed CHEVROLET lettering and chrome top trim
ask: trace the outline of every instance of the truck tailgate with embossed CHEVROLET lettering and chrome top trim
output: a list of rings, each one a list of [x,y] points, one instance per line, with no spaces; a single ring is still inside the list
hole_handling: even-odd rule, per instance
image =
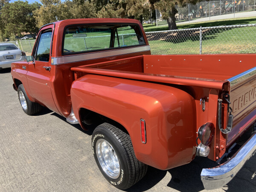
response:
[[[230,145],[256,120],[256,67],[228,80],[230,81],[230,106],[234,116],[233,128],[227,138],[227,145]]]

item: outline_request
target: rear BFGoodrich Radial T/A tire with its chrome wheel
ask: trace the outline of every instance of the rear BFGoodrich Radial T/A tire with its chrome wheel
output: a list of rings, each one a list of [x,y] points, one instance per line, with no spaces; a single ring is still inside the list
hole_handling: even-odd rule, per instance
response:
[[[147,172],[148,166],[135,157],[130,136],[111,124],[93,131],[92,148],[100,171],[118,189],[128,189]]]

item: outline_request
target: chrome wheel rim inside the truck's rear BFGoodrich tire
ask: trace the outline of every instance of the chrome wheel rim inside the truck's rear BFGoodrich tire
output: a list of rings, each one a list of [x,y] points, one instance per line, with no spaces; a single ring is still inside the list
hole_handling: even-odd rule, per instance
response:
[[[96,142],[96,155],[104,172],[113,179],[118,178],[120,175],[119,159],[111,144],[99,139]]]

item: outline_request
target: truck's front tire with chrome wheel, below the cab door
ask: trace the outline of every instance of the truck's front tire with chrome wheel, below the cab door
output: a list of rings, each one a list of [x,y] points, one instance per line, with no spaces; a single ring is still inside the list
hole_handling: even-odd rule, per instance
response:
[[[23,87],[23,84],[19,85],[17,92],[20,100],[20,105],[26,114],[33,115],[41,111],[41,105],[29,100],[26,91]]]

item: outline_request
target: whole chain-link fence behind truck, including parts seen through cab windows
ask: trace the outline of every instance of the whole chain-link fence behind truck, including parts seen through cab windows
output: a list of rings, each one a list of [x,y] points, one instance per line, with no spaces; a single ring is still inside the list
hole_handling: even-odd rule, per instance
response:
[[[146,32],[146,35],[153,55],[256,53],[256,24]],[[109,35],[81,38],[79,43],[70,42],[70,46],[84,51],[104,49],[109,46],[109,38]],[[119,35],[119,46],[132,45],[134,39],[137,39],[135,34]],[[35,40],[5,43],[13,43],[31,55]]]

